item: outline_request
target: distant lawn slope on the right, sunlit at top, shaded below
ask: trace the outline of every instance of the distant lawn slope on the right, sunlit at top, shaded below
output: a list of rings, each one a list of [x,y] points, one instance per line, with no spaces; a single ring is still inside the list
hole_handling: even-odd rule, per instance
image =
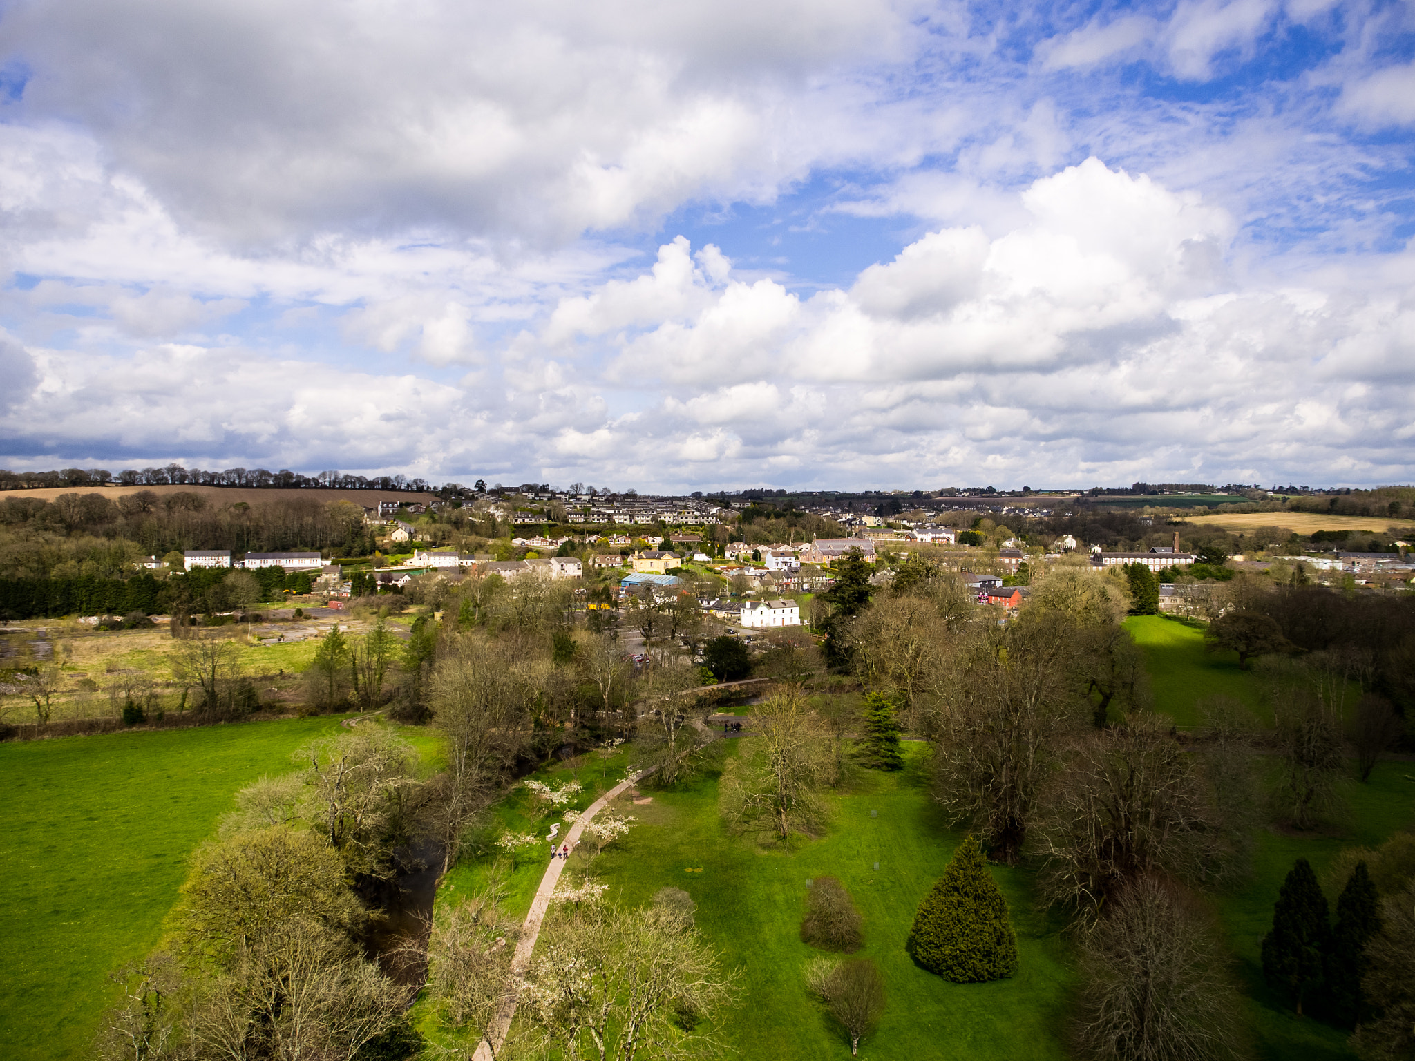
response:
[[[1238,669],[1237,652],[1208,652],[1204,632],[1165,615],[1131,615],[1125,628],[1145,649],[1155,710],[1176,726],[1203,724],[1197,703],[1208,696],[1231,696],[1259,717],[1258,688],[1252,675]]]

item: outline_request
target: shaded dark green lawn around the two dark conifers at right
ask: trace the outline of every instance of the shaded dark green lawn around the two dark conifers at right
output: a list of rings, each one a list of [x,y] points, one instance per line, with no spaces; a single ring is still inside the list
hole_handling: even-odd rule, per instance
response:
[[[1258,1058],[1351,1058],[1347,1033],[1310,1017],[1299,1019],[1262,978],[1262,938],[1272,928],[1272,905],[1288,871],[1299,857],[1320,877],[1343,847],[1374,847],[1391,833],[1415,826],[1415,781],[1408,763],[1381,763],[1370,784],[1350,781],[1343,788],[1348,813],[1329,830],[1298,833],[1262,829],[1257,837],[1252,876],[1241,887],[1217,897],[1220,925],[1234,952],[1234,972],[1245,997],[1252,1045]],[[1337,894],[1327,895],[1333,918]]]

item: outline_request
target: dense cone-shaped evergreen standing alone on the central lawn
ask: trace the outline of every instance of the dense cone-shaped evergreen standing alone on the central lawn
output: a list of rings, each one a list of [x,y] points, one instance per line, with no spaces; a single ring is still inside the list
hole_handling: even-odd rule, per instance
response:
[[[972,836],[958,845],[942,879],[918,904],[904,949],[917,965],[955,983],[1002,980],[1017,972],[1007,900]]]

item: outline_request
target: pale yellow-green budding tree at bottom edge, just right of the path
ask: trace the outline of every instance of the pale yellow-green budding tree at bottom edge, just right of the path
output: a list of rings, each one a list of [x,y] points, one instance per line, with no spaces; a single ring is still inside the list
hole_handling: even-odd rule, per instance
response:
[[[724,973],[678,914],[603,903],[562,910],[569,912],[548,925],[522,992],[542,1053],[633,1061],[717,1045],[709,1019],[732,1000],[737,973]]]

